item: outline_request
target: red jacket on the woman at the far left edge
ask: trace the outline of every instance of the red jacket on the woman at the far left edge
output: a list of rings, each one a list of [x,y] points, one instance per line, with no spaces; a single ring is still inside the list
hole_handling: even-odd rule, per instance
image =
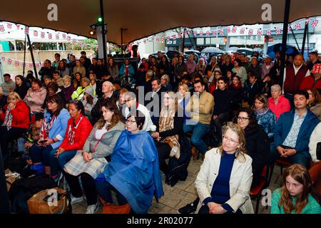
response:
[[[1,113],[1,120],[4,121],[6,117],[6,109],[8,105],[4,106],[4,111]],[[10,111],[12,115],[11,128],[29,128],[30,110],[23,100],[18,100],[16,108]]]

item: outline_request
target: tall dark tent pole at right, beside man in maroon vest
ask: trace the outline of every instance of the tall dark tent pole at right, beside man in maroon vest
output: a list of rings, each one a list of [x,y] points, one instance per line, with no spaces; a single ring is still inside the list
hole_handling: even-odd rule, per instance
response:
[[[283,20],[283,35],[282,35],[282,51],[280,65],[280,86],[283,86],[284,69],[285,69],[285,51],[287,48],[287,26],[289,25],[291,0],[285,0],[284,20]]]

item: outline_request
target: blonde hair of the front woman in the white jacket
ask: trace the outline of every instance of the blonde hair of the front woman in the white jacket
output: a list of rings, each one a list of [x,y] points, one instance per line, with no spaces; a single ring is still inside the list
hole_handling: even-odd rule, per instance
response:
[[[228,127],[224,131],[223,135],[225,135],[226,131],[231,130],[233,133],[238,135],[238,142],[240,143],[240,147],[236,149],[235,152],[235,159],[240,160],[240,162],[245,162],[245,132],[243,128],[240,127],[240,125],[235,123],[228,123]],[[223,144],[218,147],[217,152],[220,152],[220,155],[223,156]]]

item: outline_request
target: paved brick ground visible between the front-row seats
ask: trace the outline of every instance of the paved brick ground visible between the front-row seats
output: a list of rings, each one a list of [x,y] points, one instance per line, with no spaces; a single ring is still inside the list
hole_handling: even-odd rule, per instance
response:
[[[162,176],[163,179],[163,190],[164,196],[161,199],[158,199],[156,202],[153,199],[153,204],[151,205],[148,213],[150,214],[177,214],[177,210],[180,207],[185,206],[197,197],[197,192],[195,190],[195,178],[198,175],[198,171],[200,170],[200,165],[202,164],[202,160],[193,159],[190,161],[190,165],[188,166],[188,178],[185,182],[179,181],[174,187],[170,187],[165,184],[165,177]],[[275,166],[274,172],[272,174],[272,180],[270,182],[270,190],[275,190],[275,188],[280,187],[281,178],[280,178],[280,167]],[[255,209],[256,201],[252,200],[253,208]],[[86,202],[81,202],[73,205],[73,213],[74,214],[82,214],[86,212]],[[98,210],[98,213],[101,213],[101,209]],[[262,205],[259,207],[259,214],[268,214],[270,213],[270,207],[265,209]]]

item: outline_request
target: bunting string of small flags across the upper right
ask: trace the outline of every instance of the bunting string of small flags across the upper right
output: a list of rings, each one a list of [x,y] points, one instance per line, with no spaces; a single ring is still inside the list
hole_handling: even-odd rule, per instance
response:
[[[302,21],[297,21],[294,24],[290,24],[287,28],[287,32],[292,30],[299,30],[305,28],[305,24],[310,24],[312,28],[315,28],[319,21],[317,19],[304,19]],[[193,34],[193,36],[223,36],[228,34],[233,34],[239,32],[240,34],[248,36],[271,36],[272,33],[275,35],[280,35],[283,33],[283,28],[246,28],[244,26],[227,26],[225,28],[214,28],[213,30],[203,31],[202,28],[187,28],[185,31],[173,34],[172,36],[149,36],[148,38],[143,38],[138,41],[134,41],[134,44],[139,45],[140,43],[146,44],[148,41],[164,42],[170,39],[182,38],[183,34],[185,36]]]

